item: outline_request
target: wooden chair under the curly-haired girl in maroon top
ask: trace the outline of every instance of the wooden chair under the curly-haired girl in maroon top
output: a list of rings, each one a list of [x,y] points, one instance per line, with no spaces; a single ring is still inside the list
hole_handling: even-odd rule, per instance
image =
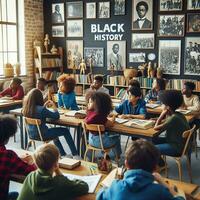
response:
[[[82,122],[82,127],[83,127],[83,136],[84,136],[84,140],[85,140],[85,153],[84,153],[84,160],[86,160],[86,156],[88,151],[92,151],[92,162],[94,162],[94,156],[95,156],[95,151],[103,151],[104,153],[108,154],[112,149],[114,149],[115,145],[112,145],[110,147],[105,148],[103,145],[103,141],[102,141],[102,132],[105,131],[105,127],[104,125],[99,125],[99,124],[86,124],[85,122]],[[94,147],[92,145],[90,145],[88,143],[87,140],[87,133],[89,132],[97,132],[97,134],[99,134],[99,138],[100,138],[100,148]],[[81,148],[80,148],[81,149]],[[118,156],[117,153],[115,152],[115,158],[116,161],[118,163]]]

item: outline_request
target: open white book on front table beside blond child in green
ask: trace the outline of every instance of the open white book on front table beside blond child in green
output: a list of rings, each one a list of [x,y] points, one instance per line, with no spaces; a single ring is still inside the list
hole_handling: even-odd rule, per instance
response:
[[[78,180],[82,180],[82,181],[86,182],[89,187],[89,193],[95,192],[95,189],[96,189],[96,187],[101,179],[101,176],[102,176],[101,174],[91,175],[91,176],[78,176],[78,175],[74,175],[74,174],[63,174],[63,175],[66,176],[70,180],[78,179]]]

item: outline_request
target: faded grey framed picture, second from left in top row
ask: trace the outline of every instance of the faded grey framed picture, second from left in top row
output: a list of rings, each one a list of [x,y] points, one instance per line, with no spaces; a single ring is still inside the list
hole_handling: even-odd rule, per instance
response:
[[[83,18],[83,2],[67,2],[66,3],[67,18]]]

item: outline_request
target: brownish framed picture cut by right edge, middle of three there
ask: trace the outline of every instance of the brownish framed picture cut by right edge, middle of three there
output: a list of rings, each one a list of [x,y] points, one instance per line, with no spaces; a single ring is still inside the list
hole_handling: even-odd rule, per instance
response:
[[[187,15],[187,32],[199,33],[200,32],[200,14],[188,13]]]

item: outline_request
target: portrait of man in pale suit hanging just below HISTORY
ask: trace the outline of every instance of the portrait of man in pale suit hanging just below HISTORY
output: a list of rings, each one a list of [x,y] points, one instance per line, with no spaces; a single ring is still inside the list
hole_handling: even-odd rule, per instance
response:
[[[107,41],[107,69],[122,71],[126,68],[126,41]]]

